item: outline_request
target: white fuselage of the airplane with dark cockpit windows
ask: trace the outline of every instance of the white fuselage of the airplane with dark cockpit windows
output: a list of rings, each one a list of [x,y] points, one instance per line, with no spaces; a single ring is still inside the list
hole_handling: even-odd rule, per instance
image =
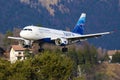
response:
[[[20,36],[27,40],[40,40],[44,38],[54,40],[57,38],[77,37],[80,34],[37,26],[27,26],[21,30]]]

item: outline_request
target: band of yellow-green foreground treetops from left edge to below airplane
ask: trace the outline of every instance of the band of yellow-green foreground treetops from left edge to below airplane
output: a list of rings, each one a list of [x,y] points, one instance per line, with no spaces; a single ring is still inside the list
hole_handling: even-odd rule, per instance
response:
[[[0,80],[68,80],[73,65],[70,57],[53,52],[13,64],[0,60]]]

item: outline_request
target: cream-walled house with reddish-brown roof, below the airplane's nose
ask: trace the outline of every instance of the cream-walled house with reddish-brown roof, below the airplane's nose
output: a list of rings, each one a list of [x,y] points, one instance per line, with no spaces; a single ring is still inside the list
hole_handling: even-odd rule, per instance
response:
[[[12,45],[10,48],[10,62],[15,63],[16,60],[25,60],[25,50],[26,48],[23,48],[21,45]],[[29,53],[32,53],[32,49],[29,49]]]

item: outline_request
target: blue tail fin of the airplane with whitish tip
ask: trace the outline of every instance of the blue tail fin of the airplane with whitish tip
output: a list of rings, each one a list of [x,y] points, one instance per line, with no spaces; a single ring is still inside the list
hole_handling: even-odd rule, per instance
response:
[[[78,34],[84,33],[85,18],[86,18],[86,14],[82,13],[72,32],[78,33]]]

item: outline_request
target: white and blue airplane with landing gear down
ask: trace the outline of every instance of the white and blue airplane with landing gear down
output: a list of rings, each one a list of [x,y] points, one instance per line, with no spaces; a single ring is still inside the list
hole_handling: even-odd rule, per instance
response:
[[[57,29],[50,29],[38,26],[26,26],[20,31],[20,37],[11,37],[9,39],[16,39],[24,41],[24,47],[31,47],[34,42],[40,46],[39,51],[44,49],[41,47],[43,43],[53,43],[58,46],[63,46],[62,52],[67,52],[67,45],[87,40],[88,38],[97,38],[111,32],[102,32],[95,34],[84,34],[86,13],[82,13],[78,19],[77,24],[72,31],[63,31]]]

